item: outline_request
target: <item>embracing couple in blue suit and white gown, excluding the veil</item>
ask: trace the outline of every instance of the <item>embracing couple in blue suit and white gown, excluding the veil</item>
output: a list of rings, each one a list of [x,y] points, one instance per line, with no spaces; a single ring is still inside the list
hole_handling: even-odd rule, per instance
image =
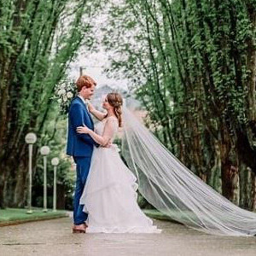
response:
[[[84,75],[76,85],[79,95],[69,108],[67,134],[67,154],[77,165],[73,233],[160,233],[138,207],[137,178],[113,144],[122,125],[122,97],[109,93],[102,113],[85,102],[94,94],[94,79]],[[94,125],[90,113],[100,122]]]

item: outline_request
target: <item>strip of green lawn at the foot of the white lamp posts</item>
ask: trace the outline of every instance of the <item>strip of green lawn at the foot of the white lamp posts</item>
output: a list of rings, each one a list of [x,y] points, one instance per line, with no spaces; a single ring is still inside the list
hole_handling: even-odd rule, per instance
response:
[[[26,213],[27,209],[16,209],[16,208],[6,208],[4,210],[0,209],[0,226],[5,226],[9,224],[20,224],[35,220],[44,220],[49,218],[62,218],[67,217],[67,211],[57,211],[43,212],[42,208],[33,208],[32,213]]]

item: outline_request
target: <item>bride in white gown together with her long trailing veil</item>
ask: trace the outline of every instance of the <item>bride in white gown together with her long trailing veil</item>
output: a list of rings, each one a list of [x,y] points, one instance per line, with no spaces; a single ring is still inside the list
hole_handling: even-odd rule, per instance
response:
[[[89,232],[160,232],[137,206],[137,183],[158,211],[189,228],[218,236],[256,236],[256,214],[220,195],[183,165],[133,114],[122,98],[110,93],[108,114],[89,106],[102,120],[96,132],[78,127],[103,146],[95,148],[80,203],[89,212]],[[112,144],[123,119],[122,154]],[[137,183],[136,183],[137,181]]]

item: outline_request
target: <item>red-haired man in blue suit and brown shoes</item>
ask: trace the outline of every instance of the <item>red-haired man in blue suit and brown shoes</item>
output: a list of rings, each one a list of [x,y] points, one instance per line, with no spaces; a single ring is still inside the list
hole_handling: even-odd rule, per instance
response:
[[[90,160],[93,145],[97,144],[88,134],[76,132],[78,126],[86,125],[94,130],[93,121],[85,104],[94,94],[96,82],[89,76],[80,76],[76,82],[79,95],[70,104],[68,113],[67,154],[73,156],[77,164],[77,180],[73,198],[73,233],[85,233],[85,221],[88,214],[83,212],[83,205],[79,205],[84,190],[86,178],[90,170]]]

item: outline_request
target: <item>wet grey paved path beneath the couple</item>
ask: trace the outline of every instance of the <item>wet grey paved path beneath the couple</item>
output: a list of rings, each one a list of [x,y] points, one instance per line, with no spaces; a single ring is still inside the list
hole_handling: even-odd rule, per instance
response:
[[[1,256],[255,256],[255,237],[210,236],[180,224],[155,221],[161,234],[72,234],[59,218],[0,228]]]

